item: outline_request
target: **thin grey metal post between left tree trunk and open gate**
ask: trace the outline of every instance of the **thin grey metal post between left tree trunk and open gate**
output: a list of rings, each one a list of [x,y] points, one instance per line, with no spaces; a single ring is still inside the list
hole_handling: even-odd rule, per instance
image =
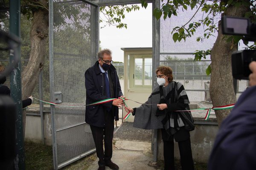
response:
[[[39,84],[39,99],[43,100],[43,70],[40,71],[38,77],[38,84]],[[41,117],[41,136],[42,136],[42,144],[44,144],[44,103],[39,102],[40,104],[40,117]]]

